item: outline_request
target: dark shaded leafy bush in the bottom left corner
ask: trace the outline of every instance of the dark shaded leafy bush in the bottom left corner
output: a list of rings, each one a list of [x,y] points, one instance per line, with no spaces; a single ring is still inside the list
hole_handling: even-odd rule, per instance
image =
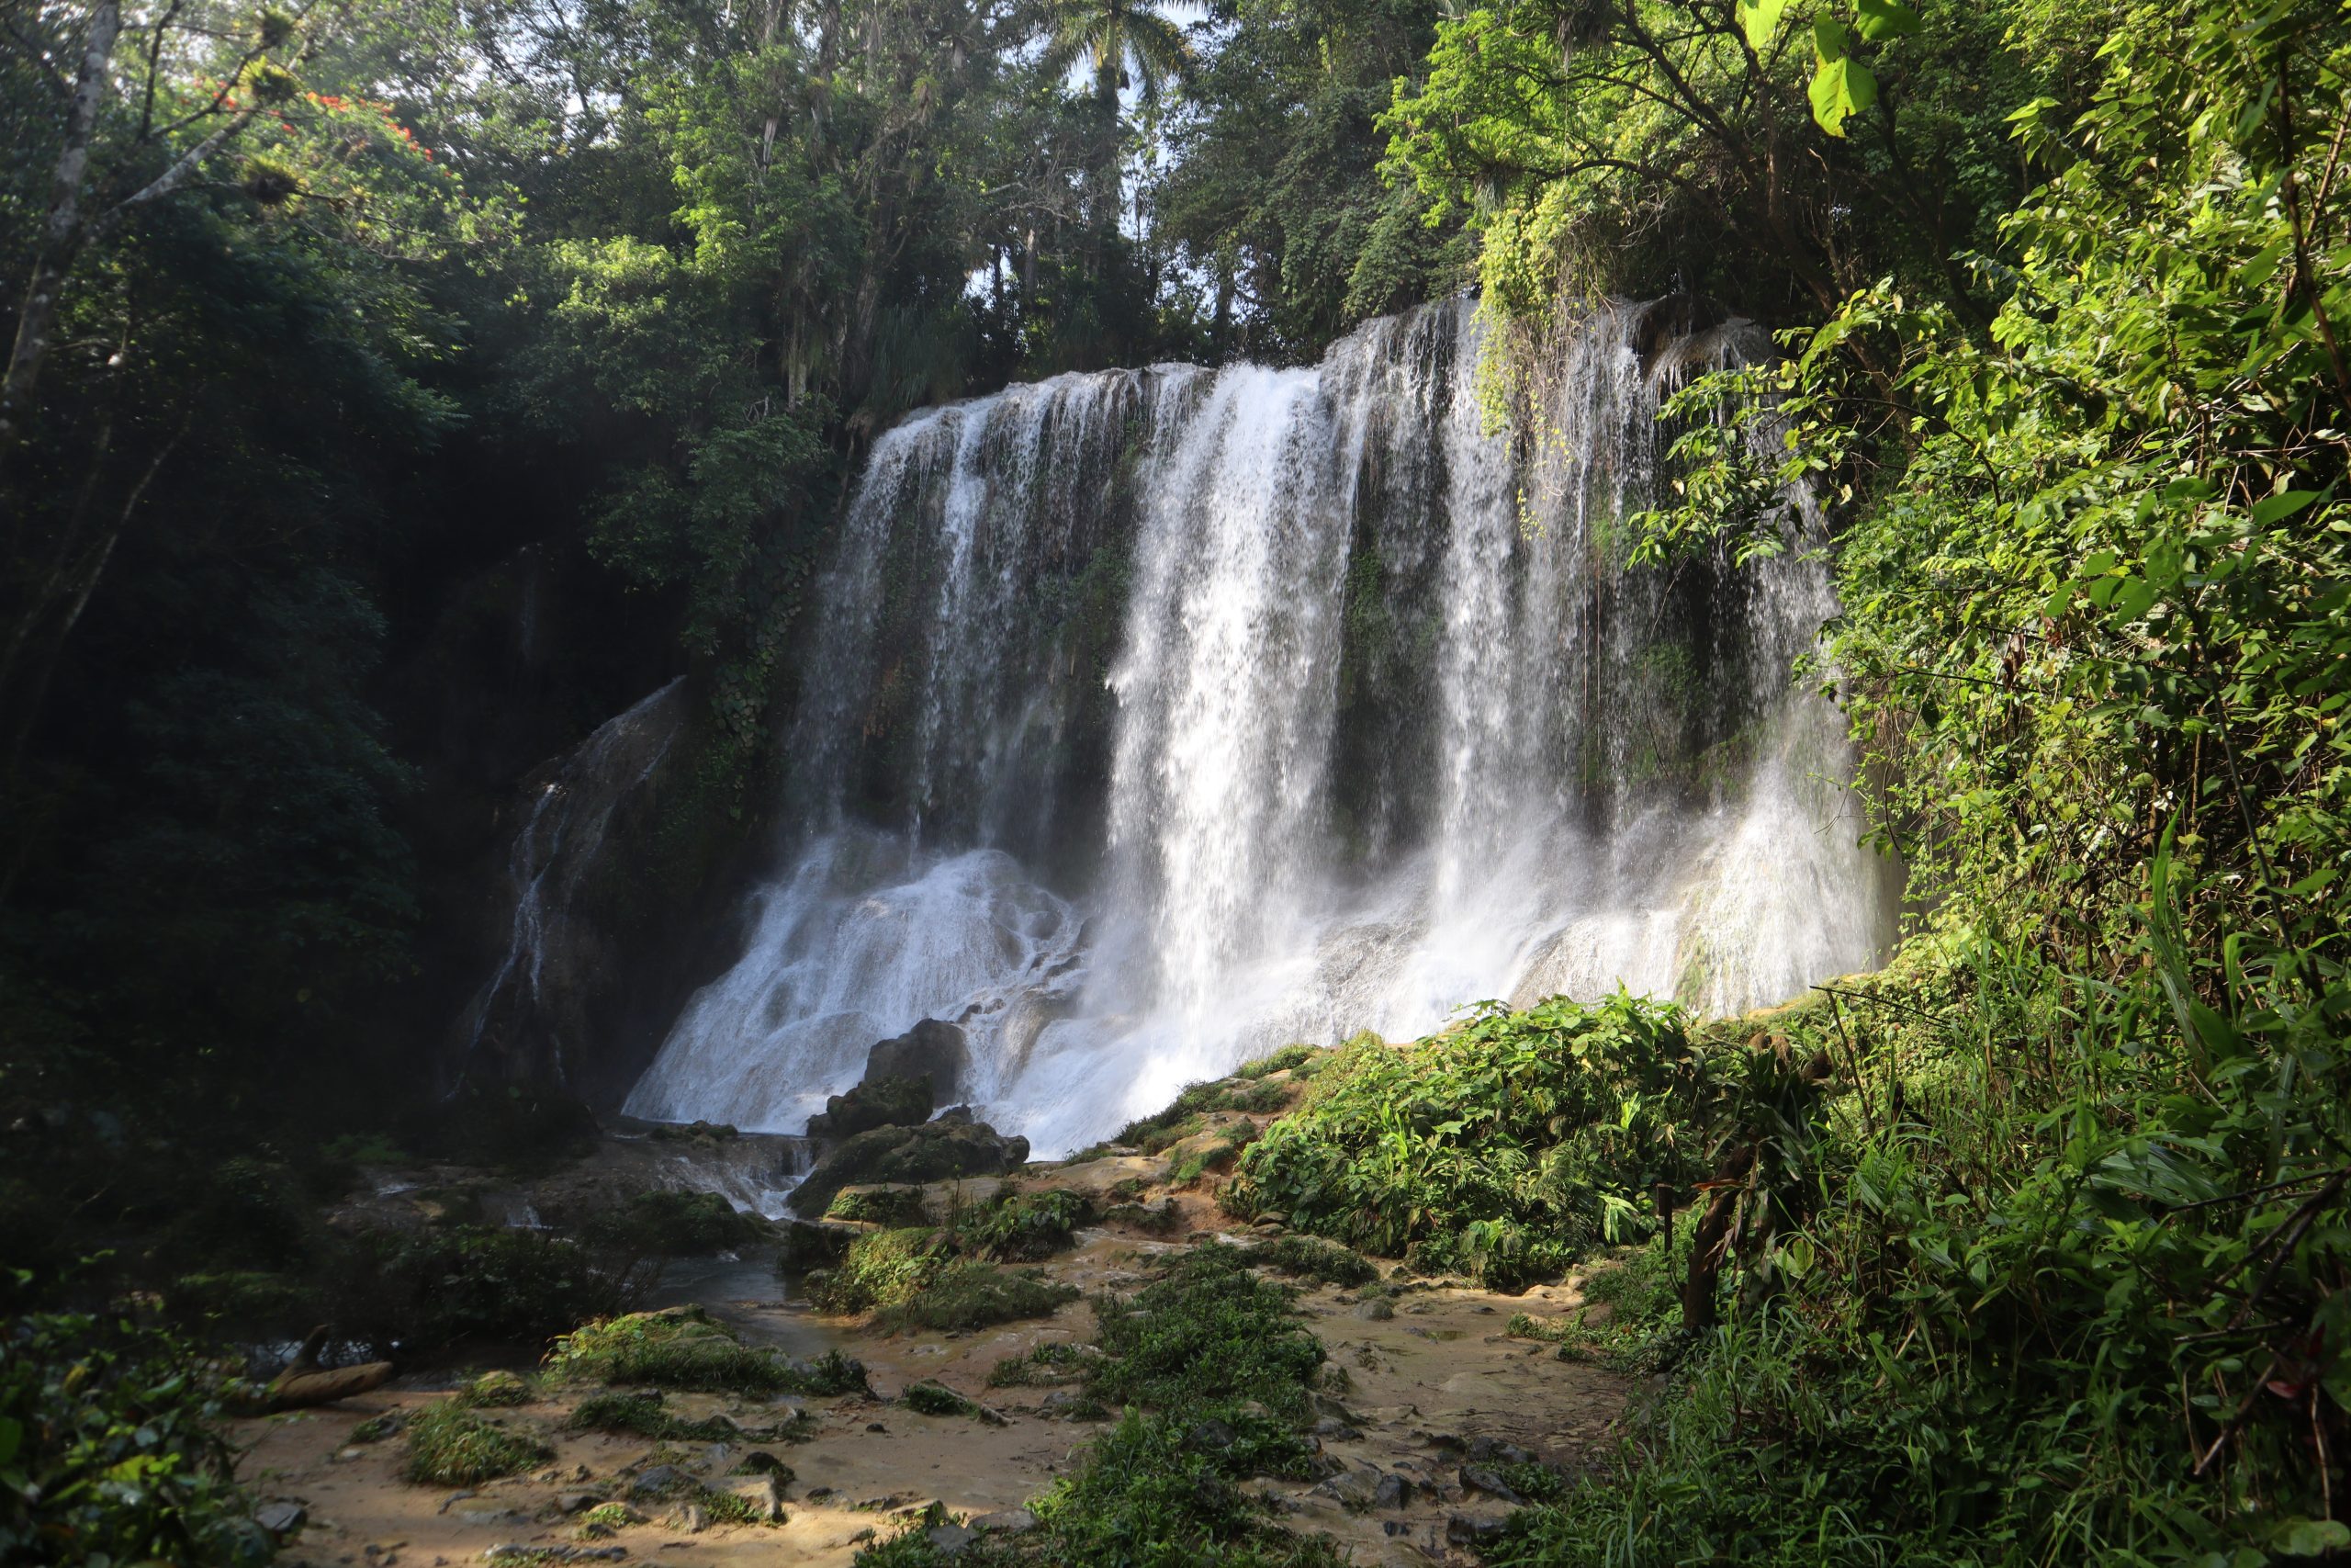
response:
[[[266,1563],[219,1434],[228,1375],[125,1319],[40,1314],[0,1340],[0,1559]]]

